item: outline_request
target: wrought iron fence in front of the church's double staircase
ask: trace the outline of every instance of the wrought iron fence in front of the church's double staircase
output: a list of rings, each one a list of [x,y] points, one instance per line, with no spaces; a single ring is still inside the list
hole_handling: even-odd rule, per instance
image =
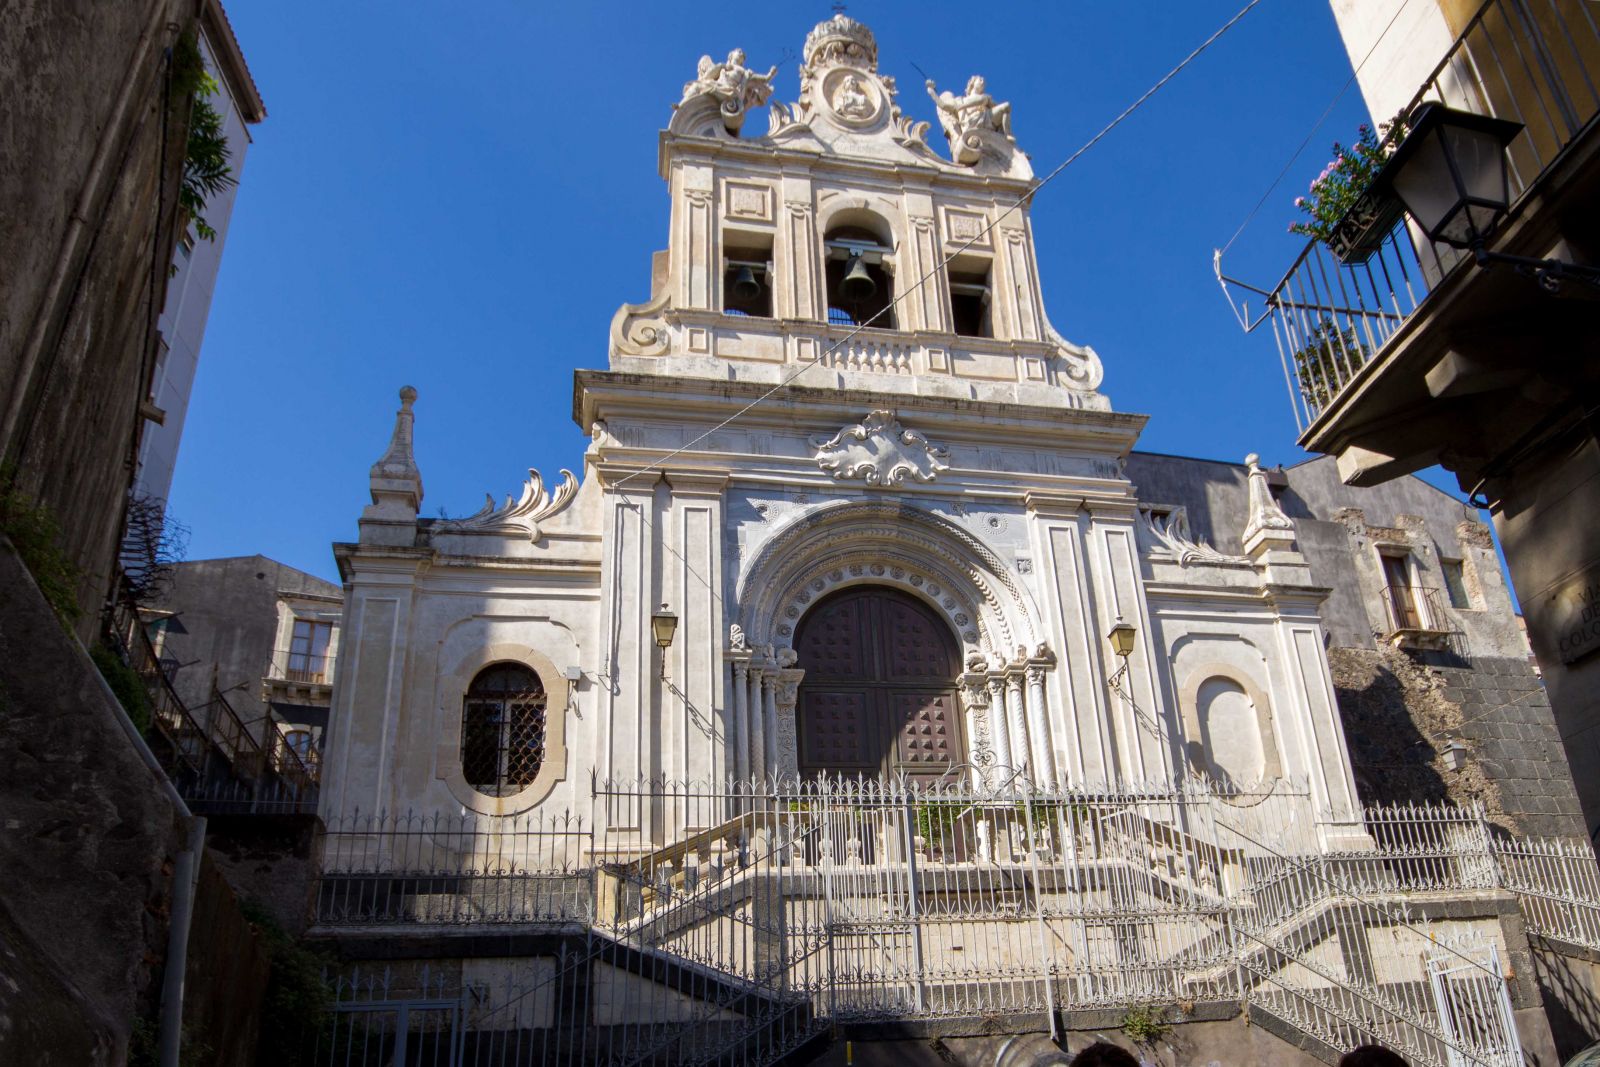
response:
[[[1328,830],[1283,782],[610,782],[592,819],[331,819],[317,921],[555,937],[451,987],[451,1048],[493,1062],[771,1062],[835,1022],[1237,1000],[1334,1048],[1518,1062],[1493,909],[1440,928],[1418,891],[1507,888],[1534,933],[1600,947],[1594,854],[1445,805]]]

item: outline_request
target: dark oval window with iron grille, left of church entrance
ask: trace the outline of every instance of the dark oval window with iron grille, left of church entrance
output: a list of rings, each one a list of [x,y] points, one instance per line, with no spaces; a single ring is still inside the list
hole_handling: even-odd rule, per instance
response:
[[[467,686],[461,709],[461,771],[486,797],[520,793],[544,763],[546,694],[522,664],[491,664]]]

